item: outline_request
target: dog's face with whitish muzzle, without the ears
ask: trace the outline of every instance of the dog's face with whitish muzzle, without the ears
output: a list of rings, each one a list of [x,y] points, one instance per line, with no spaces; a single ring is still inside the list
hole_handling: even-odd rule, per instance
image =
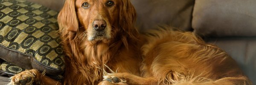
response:
[[[119,19],[121,0],[76,0],[76,14],[87,40],[110,39]],[[83,29],[85,31],[83,31]]]

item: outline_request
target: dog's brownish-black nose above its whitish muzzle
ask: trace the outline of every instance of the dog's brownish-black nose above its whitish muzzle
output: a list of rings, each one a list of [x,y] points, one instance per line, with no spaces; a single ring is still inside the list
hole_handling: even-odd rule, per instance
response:
[[[93,28],[96,31],[103,31],[107,26],[107,23],[105,22],[105,20],[94,20],[93,21]]]

